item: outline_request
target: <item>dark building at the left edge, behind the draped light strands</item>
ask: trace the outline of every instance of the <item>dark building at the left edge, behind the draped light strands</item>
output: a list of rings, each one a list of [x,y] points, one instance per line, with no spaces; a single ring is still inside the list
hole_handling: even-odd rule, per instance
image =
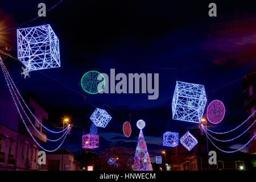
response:
[[[32,140],[23,122],[19,117],[16,106],[9,90],[0,90],[0,170],[37,170],[39,146]],[[32,113],[38,118],[40,123],[48,119],[48,113],[34,98],[28,97],[26,102]],[[31,122],[34,123],[38,131],[44,137],[46,133],[42,126],[29,115]],[[31,130],[32,135],[37,142],[46,142],[46,139],[40,136],[32,125],[26,119],[25,122]]]

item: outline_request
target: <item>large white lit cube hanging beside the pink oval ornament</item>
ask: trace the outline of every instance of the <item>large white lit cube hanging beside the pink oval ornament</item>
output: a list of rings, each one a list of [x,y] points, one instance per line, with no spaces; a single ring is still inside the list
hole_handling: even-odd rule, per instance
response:
[[[176,82],[172,98],[172,119],[201,123],[206,104],[204,85]]]

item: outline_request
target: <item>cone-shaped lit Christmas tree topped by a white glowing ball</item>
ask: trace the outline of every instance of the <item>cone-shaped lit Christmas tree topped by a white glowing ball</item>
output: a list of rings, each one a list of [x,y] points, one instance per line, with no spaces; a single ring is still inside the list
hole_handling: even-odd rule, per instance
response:
[[[144,140],[144,135],[142,133],[142,129],[144,126],[145,122],[143,120],[139,120],[137,122],[137,127],[141,129],[141,131],[139,132],[138,144],[134,156],[134,171],[153,171],[150,162],[150,156],[148,155],[147,151],[147,144]]]

